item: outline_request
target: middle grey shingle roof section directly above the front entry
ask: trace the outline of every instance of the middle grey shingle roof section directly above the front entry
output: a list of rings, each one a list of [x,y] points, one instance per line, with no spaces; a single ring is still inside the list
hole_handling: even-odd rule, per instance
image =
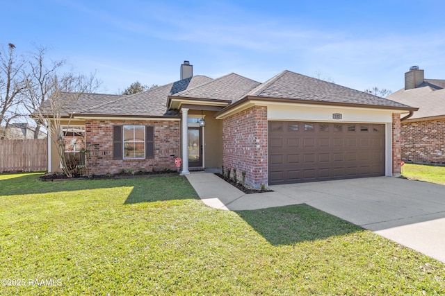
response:
[[[230,73],[202,85],[179,92],[175,97],[205,98],[210,100],[237,101],[248,92],[260,85],[254,81],[236,73]]]

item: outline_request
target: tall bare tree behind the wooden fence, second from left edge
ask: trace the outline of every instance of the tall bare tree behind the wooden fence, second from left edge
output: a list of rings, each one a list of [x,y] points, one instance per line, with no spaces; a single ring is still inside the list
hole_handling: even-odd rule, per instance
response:
[[[45,47],[35,46],[35,52],[31,53],[27,61],[28,67],[23,70],[26,77],[23,105],[29,114],[33,114],[42,105],[51,89],[54,88],[57,71],[65,65],[65,60],[47,62],[47,51]],[[35,123],[34,139],[38,139],[43,123],[39,119],[35,119]]]

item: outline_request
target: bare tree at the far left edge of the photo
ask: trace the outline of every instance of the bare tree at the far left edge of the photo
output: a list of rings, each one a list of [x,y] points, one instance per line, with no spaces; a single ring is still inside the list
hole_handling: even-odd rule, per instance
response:
[[[20,116],[19,95],[26,87],[22,71],[25,65],[24,60],[16,55],[14,44],[8,44],[6,51],[0,49],[0,126],[4,125],[5,130],[12,119]]]

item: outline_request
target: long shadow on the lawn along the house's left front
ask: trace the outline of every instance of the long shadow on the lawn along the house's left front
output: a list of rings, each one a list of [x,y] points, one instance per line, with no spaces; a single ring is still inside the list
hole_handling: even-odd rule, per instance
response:
[[[0,196],[131,187],[124,204],[199,198],[186,178],[178,175],[60,182],[42,182],[40,175],[43,173],[0,175]]]

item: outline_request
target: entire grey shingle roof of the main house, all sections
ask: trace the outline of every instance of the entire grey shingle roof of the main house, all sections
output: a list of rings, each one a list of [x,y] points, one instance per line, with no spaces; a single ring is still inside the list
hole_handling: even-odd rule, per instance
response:
[[[437,83],[436,80],[432,82]],[[70,94],[64,95],[70,96]],[[257,96],[266,99],[410,108],[402,102],[390,101],[334,83],[283,71],[264,83],[230,73],[215,80],[207,76],[193,76],[130,96],[81,94],[75,108],[68,104],[64,111],[65,115],[74,111],[74,114],[86,116],[179,116],[177,110],[168,110],[169,96],[227,100],[232,103],[247,96]],[[406,103],[410,104],[408,101]],[[48,101],[42,104],[41,110],[49,112]]]

